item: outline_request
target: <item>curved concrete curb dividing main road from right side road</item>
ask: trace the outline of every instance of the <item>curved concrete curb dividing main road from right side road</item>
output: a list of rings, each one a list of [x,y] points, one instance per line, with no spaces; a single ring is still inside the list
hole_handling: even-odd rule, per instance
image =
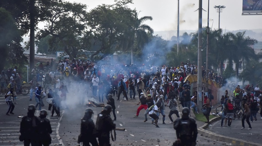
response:
[[[210,122],[212,123],[212,122],[218,121],[220,119],[221,119],[221,117],[215,117],[215,118],[211,119]],[[218,140],[218,141],[225,141],[225,142],[232,143],[232,144],[235,144],[235,145],[238,145],[238,146],[262,146],[262,144],[257,144],[257,143],[250,142],[250,141],[247,142],[247,141],[244,141],[244,140],[241,140],[241,139],[227,137],[227,136],[223,136],[223,135],[219,135],[219,134],[210,132],[208,130],[205,130],[207,127],[208,127],[207,123],[205,123],[203,126],[199,127],[197,129],[198,134],[202,134],[202,135],[207,136],[209,138],[212,138],[212,139],[215,139],[215,140]]]

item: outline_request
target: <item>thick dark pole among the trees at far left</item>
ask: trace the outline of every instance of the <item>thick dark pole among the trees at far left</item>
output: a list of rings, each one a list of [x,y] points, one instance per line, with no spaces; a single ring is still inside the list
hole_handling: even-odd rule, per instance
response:
[[[34,22],[34,0],[30,0],[30,70],[34,68],[34,27],[35,27],[35,22]]]

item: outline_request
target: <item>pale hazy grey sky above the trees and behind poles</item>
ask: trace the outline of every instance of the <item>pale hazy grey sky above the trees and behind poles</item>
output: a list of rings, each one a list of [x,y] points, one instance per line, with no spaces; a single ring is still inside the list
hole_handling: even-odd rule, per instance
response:
[[[113,4],[114,0],[68,0],[69,2],[81,2],[93,9],[100,4]],[[146,24],[154,31],[177,29],[177,0],[134,0],[131,8],[136,8],[139,17],[152,16],[152,21]],[[199,0],[180,0],[180,24],[179,30],[197,30]],[[203,0],[203,9],[207,11],[208,0]],[[223,30],[262,29],[262,15],[242,16],[242,0],[210,0],[210,27],[218,28],[218,12],[215,5],[225,5],[220,13],[220,27]],[[213,22],[214,21],[214,22]],[[207,26],[207,12],[203,12],[203,26]]]

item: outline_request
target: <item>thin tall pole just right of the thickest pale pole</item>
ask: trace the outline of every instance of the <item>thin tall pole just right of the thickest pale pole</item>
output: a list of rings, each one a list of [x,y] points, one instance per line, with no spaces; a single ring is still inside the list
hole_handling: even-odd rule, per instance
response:
[[[209,0],[207,6],[207,54],[206,54],[206,95],[208,95],[208,43],[209,43]]]

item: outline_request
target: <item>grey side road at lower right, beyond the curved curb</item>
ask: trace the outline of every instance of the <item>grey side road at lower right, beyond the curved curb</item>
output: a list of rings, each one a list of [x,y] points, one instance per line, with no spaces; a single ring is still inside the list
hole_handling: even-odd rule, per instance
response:
[[[234,137],[237,139],[242,139],[245,141],[252,141],[255,143],[260,143],[261,144],[261,137],[262,137],[262,120],[260,119],[260,115],[257,114],[257,121],[253,120],[253,123],[251,123],[251,130],[247,130],[248,124],[245,121],[245,129],[241,130],[242,128],[242,122],[240,120],[233,120],[231,127],[224,127],[225,126],[225,121],[223,123],[223,127],[220,127],[221,120],[213,123],[212,127],[209,127],[209,131],[228,136],[228,137]]]

